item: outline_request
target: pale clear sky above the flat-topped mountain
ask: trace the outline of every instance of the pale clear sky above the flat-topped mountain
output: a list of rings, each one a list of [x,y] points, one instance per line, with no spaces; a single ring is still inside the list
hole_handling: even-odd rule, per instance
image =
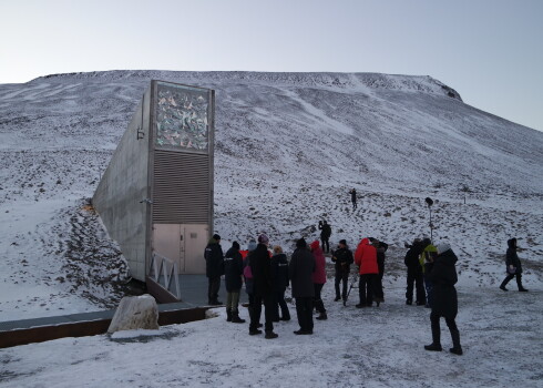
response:
[[[543,0],[0,0],[0,83],[103,70],[431,75],[543,131]]]

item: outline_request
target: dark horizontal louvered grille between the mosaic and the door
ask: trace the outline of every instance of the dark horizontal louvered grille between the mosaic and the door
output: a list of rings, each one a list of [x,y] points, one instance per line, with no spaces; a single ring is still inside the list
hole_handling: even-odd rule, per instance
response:
[[[153,185],[153,223],[208,223],[208,155],[156,150]]]

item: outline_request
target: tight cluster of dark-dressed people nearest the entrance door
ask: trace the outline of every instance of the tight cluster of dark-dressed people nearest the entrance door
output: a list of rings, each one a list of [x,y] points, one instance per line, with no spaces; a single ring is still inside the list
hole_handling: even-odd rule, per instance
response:
[[[288,262],[279,245],[274,246],[270,252],[269,238],[264,233],[257,241],[249,241],[246,251],[240,251],[239,243],[234,242],[224,256],[221,236],[215,234],[209,239],[204,256],[208,277],[208,304],[212,306],[223,304],[218,300],[217,282],[219,284],[221,276],[225,276],[227,321],[245,323],[238,312],[239,294],[245,283],[249,299],[249,335],[262,334],[260,317],[264,305],[265,338],[278,337],[274,331],[274,323],[290,320],[285,302],[285,290],[289,285],[296,299],[300,326],[295,334],[313,334],[314,310],[319,314],[316,319],[328,318],[321,298],[322,286],[326,283],[326,259],[318,241],[308,245],[304,238],[298,239]]]

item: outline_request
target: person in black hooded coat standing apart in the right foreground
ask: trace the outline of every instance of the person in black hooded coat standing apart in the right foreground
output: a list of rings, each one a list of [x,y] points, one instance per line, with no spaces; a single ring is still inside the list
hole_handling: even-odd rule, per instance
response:
[[[455,318],[458,314],[458,297],[454,285],[458,282],[455,263],[458,257],[448,244],[439,244],[438,256],[436,256],[433,267],[427,275],[432,282],[432,312],[430,323],[432,328],[432,344],[426,345],[424,349],[441,351],[441,329],[439,319],[445,318],[449,331],[451,331],[452,348],[449,350],[455,355],[462,355],[460,345],[460,331],[458,330]]]

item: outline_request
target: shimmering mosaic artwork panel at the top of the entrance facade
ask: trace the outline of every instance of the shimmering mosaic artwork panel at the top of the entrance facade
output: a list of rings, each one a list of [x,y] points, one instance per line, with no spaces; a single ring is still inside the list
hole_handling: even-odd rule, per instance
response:
[[[207,150],[207,92],[158,83],[157,94],[156,144]]]

